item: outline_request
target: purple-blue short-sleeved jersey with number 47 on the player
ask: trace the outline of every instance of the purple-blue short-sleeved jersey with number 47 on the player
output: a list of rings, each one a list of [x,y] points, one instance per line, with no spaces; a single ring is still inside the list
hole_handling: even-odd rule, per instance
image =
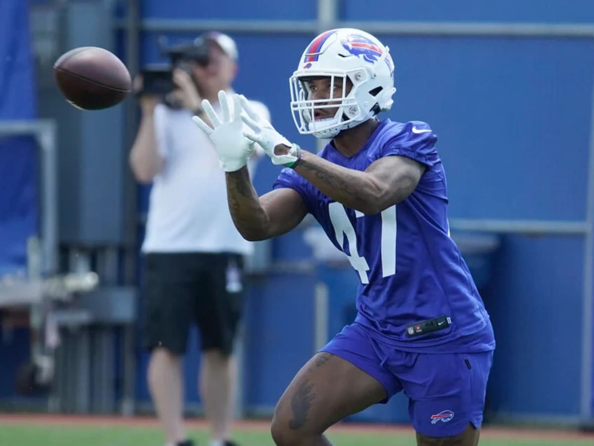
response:
[[[355,322],[370,335],[409,351],[492,350],[489,316],[450,238],[447,186],[436,140],[426,123],[384,120],[350,158],[331,143],[318,153],[358,171],[393,155],[425,165],[412,194],[376,215],[346,208],[292,169],[283,169],[273,187],[296,190],[334,246],[347,255],[361,281]]]

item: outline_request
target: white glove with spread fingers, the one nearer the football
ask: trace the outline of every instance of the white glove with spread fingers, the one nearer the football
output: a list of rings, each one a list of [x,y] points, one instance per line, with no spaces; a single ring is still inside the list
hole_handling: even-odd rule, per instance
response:
[[[238,95],[233,96],[233,114],[229,111],[227,95],[223,90],[219,92],[221,118],[217,116],[207,99],[202,101],[204,112],[213,123],[210,127],[199,117],[192,117],[192,121],[208,135],[219,155],[219,167],[225,172],[235,172],[248,164],[249,156],[254,150],[254,143],[242,133],[244,123],[241,120],[241,102]]]

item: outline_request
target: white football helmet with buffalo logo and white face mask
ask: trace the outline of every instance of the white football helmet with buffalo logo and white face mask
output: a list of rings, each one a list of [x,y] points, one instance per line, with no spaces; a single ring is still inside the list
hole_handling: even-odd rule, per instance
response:
[[[310,100],[306,80],[312,77],[329,77],[331,86],[336,78],[342,78],[342,97]],[[353,85],[348,93],[347,78]],[[389,110],[396,92],[394,62],[388,47],[371,34],[352,28],[333,29],[315,37],[301,56],[289,84],[297,130],[318,138],[332,138],[341,130]],[[333,87],[330,92],[333,95]],[[328,104],[330,100],[332,103]],[[336,106],[333,117],[314,119],[316,109]]]

